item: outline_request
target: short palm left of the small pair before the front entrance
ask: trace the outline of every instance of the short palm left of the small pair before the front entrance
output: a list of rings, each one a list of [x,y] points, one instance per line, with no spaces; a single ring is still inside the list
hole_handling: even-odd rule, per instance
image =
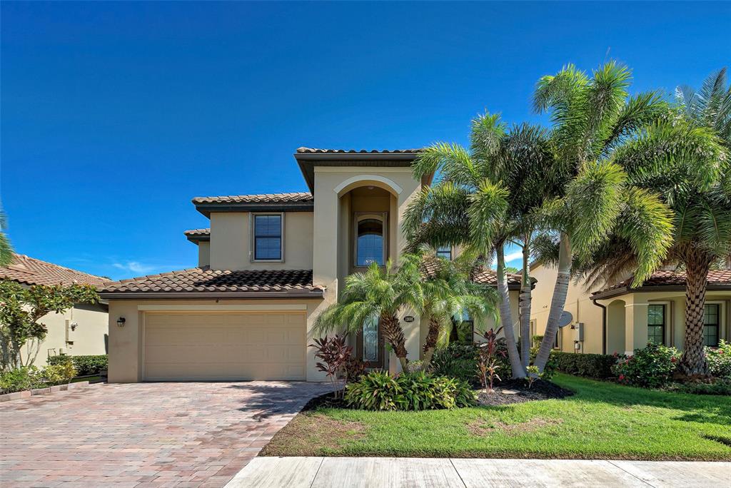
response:
[[[365,272],[357,272],[345,278],[340,300],[327,307],[317,317],[314,330],[330,332],[345,329],[358,333],[368,320],[379,319],[383,336],[408,371],[406,338],[398,320],[403,309],[420,313],[424,306],[420,286],[420,260],[416,256],[401,256],[401,264],[395,267],[389,260],[385,267],[371,264]]]

